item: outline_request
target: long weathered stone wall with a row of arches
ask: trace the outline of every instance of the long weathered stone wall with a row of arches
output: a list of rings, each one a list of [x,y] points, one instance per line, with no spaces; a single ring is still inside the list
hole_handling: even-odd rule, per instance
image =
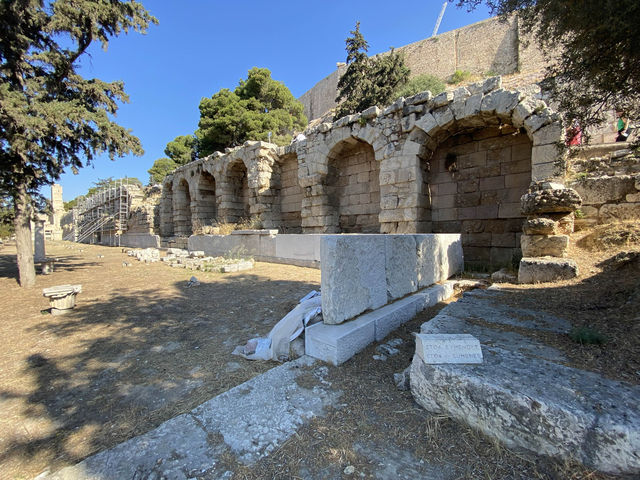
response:
[[[532,180],[564,176],[558,117],[539,89],[504,90],[500,77],[371,107],[305,135],[286,147],[246,142],[178,168],[163,184],[161,231],[187,236],[197,222],[235,222],[242,211],[263,228],[295,222],[303,233],[463,233],[468,260],[503,265],[518,249],[519,196]]]

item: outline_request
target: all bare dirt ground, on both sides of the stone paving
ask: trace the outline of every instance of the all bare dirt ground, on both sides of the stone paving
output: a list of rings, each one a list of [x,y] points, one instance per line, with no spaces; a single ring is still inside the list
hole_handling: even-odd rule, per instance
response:
[[[624,240],[616,228],[609,234]],[[640,251],[640,241],[594,246],[591,233],[572,238],[579,278],[503,287],[513,305],[548,311],[606,338],[582,345],[568,335],[541,335],[565,352],[570,365],[637,384],[640,260],[616,255]],[[11,247],[0,251],[6,339],[0,407],[7,412],[0,417],[2,479],[32,478],[45,467],[75,463],[272,367],[229,353],[267,333],[320,280],[318,270],[258,263],[248,273],[196,273],[202,284],[187,288],[193,272],[145,265],[120,249],[59,243],[48,245],[48,254],[64,258],[63,266],[24,290],[14,279],[12,253]],[[132,266],[122,267],[123,261]],[[42,314],[48,302],[41,288],[63,283],[83,285],[77,309],[64,317]],[[328,367],[327,379],[344,392],[340,405],[256,465],[229,456],[233,478],[632,478],[509,450],[450,418],[430,415],[410,392],[397,390],[393,374],[411,362],[412,332],[443,307],[393,332],[389,338],[402,344],[387,361],[373,360],[374,344],[341,367]],[[353,473],[344,473],[347,467]]]

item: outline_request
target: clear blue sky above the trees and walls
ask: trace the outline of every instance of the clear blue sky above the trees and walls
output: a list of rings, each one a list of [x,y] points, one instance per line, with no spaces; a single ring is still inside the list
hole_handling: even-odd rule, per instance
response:
[[[345,61],[344,40],[356,21],[373,55],[429,37],[443,3],[142,1],[159,25],[146,35],[114,39],[107,52],[96,45],[80,71],[87,78],[125,82],[130,103],[120,107],[116,121],[133,130],[145,153],[113,162],[102,158],[78,175],[63,175],[65,201],[100,178],[137,177],[146,184],[147,170],[165,156],[166,144],[196,130],[200,100],[234,89],[252,67],[268,68],[299,97]],[[469,13],[449,4],[439,33],[488,17],[484,7]]]

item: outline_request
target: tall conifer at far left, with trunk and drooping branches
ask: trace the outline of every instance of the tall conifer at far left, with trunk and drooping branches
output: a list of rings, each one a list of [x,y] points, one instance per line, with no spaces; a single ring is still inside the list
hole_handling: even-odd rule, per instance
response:
[[[11,0],[0,3],[0,181],[13,199],[19,281],[35,283],[31,213],[38,189],[98,155],[142,154],[111,120],[128,101],[122,82],[85,79],[78,59],[94,42],[157,20],[136,1]]]

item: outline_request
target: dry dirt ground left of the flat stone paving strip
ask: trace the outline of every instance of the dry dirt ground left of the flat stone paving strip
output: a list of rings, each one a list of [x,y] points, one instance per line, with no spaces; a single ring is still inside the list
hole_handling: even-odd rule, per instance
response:
[[[15,247],[0,250],[3,480],[77,463],[273,367],[230,353],[320,284],[319,270],[290,265],[194,273],[68,242],[47,255],[54,274],[22,289]],[[69,283],[82,285],[76,308],[50,315],[42,289]]]

